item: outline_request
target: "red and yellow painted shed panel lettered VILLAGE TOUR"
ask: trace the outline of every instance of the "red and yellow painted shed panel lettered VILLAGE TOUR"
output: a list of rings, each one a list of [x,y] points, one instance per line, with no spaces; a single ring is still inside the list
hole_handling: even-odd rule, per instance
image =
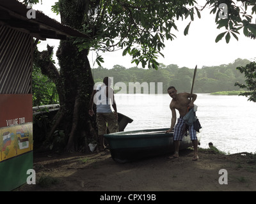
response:
[[[33,150],[31,94],[1,94],[0,163]]]

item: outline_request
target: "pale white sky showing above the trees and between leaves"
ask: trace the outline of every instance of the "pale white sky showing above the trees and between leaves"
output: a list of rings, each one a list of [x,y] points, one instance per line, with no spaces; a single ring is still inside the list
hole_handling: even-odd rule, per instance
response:
[[[43,4],[33,5],[33,9],[43,11],[45,15],[60,22],[60,15],[57,16],[51,11],[51,6],[54,2],[49,0],[43,1]],[[159,55],[158,62],[164,65],[177,64],[180,68],[183,66],[195,68],[196,65],[198,68],[202,68],[202,66],[218,66],[220,64],[232,63],[237,58],[255,61],[256,40],[246,38],[243,31],[238,36],[239,41],[231,37],[230,42],[227,44],[224,37],[221,41],[215,43],[216,36],[223,33],[225,29],[217,29],[217,25],[214,22],[215,15],[210,15],[209,13],[210,10],[205,9],[201,13],[201,18],[195,17],[195,20],[191,22],[188,35],[186,36],[184,36],[184,29],[190,20],[186,19],[177,22],[179,32],[173,30],[173,34],[177,38],[173,41],[164,41],[165,48],[162,50],[164,58]],[[253,16],[252,22],[256,22],[255,15]],[[56,52],[59,42],[59,40],[47,39],[46,41],[41,41],[38,49],[40,51],[45,50],[47,44],[49,44],[54,46],[54,52]],[[99,52],[99,54],[104,58],[104,62],[102,63],[104,68],[111,69],[116,64],[125,68],[136,66],[136,64],[131,63],[131,56],[122,56],[122,50],[105,53]],[[98,67],[98,64],[94,63],[96,59],[95,51],[90,52],[88,59],[92,68]],[[54,57],[54,60],[58,61],[56,57]],[[140,64],[139,67],[141,67]]]

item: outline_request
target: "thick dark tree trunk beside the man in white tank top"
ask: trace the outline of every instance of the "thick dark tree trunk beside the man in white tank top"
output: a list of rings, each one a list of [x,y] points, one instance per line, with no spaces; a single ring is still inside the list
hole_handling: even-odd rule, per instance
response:
[[[60,0],[61,23],[75,29],[83,26],[83,10],[77,7],[74,1]],[[60,64],[60,72],[57,71],[50,59],[51,48],[48,48],[48,55],[45,57],[43,51],[40,56],[42,61],[40,68],[42,72],[54,80],[60,96],[60,113],[56,115],[52,129],[48,135],[48,142],[54,143],[54,131],[56,129],[65,132],[65,150],[87,150],[84,147],[90,140],[97,139],[97,128],[95,117],[88,115],[90,95],[93,90],[93,77],[88,61],[88,50],[79,52],[74,45],[75,38],[61,40],[56,56]],[[44,57],[42,56],[44,54]],[[54,73],[54,74],[53,74]]]

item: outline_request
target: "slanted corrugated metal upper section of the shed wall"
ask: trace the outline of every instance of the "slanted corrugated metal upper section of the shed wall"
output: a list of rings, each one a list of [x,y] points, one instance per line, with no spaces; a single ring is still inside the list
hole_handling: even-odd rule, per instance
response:
[[[0,25],[0,94],[31,94],[32,37]]]

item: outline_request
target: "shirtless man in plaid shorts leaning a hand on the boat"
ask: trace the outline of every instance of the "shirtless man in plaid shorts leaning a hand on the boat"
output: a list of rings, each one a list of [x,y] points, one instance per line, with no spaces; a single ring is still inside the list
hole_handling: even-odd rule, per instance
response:
[[[170,133],[176,124],[177,117],[176,117],[175,109],[177,109],[180,113],[180,118],[178,119],[178,122],[174,129],[174,134],[173,134],[173,142],[174,142],[175,152],[174,152],[173,156],[169,157],[170,159],[173,159],[173,158],[179,157],[179,145],[180,145],[180,141],[182,140],[182,138],[184,136],[185,122],[182,118],[188,112],[188,107],[193,108],[194,101],[196,100],[197,96],[196,96],[196,94],[192,94],[190,96],[190,94],[187,92],[177,94],[177,90],[173,86],[169,87],[167,91],[168,91],[169,96],[172,97],[172,101],[170,103],[170,109],[172,111],[172,123],[171,123],[171,128],[168,129],[166,131],[166,133]],[[191,97],[191,101],[189,101],[190,97]],[[197,154],[198,140],[197,140],[196,131],[195,131],[193,125],[189,126],[189,135],[192,140],[193,147],[194,147],[194,157],[192,160],[197,161],[198,160],[198,154]]]

